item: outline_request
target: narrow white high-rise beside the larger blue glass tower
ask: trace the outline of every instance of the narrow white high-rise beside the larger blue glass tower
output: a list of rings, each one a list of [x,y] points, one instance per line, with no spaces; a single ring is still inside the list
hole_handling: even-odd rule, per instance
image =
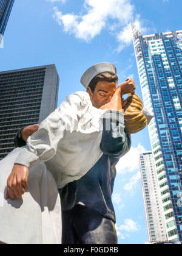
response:
[[[149,243],[164,242],[167,232],[152,152],[140,154],[140,171]]]

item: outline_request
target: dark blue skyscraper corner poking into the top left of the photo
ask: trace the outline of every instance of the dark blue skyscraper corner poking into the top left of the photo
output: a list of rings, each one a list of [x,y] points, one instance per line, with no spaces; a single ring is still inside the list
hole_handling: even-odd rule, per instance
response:
[[[1,0],[0,1],[0,43],[2,35],[4,35],[5,27],[7,26],[8,18],[12,11],[15,0]]]

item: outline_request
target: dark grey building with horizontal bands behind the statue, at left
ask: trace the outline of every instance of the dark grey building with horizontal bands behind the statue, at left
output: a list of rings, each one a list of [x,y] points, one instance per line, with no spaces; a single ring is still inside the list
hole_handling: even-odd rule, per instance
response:
[[[16,132],[41,122],[57,107],[55,65],[0,72],[0,160],[14,147]]]

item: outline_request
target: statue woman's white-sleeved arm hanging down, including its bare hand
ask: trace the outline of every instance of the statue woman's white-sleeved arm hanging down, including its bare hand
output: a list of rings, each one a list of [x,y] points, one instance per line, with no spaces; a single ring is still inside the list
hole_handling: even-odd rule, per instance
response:
[[[25,129],[24,140],[29,135],[26,146],[19,151],[12,172],[7,180],[6,197],[19,197],[27,188],[29,167],[39,162],[46,162],[56,154],[59,141],[64,137],[66,128],[74,130],[84,108],[83,98],[79,94],[71,94],[62,102],[55,112],[42,121],[41,125]],[[24,129],[22,129],[24,130]]]

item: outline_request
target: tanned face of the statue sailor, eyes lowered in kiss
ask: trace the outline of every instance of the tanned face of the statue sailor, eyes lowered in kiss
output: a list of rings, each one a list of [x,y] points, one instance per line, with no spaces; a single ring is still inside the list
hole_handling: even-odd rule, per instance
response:
[[[113,97],[113,94],[116,91],[115,82],[98,82],[95,88],[95,91],[92,92],[89,88],[87,91],[90,95],[90,100],[92,101],[93,107],[100,108],[103,105],[109,103]]]

